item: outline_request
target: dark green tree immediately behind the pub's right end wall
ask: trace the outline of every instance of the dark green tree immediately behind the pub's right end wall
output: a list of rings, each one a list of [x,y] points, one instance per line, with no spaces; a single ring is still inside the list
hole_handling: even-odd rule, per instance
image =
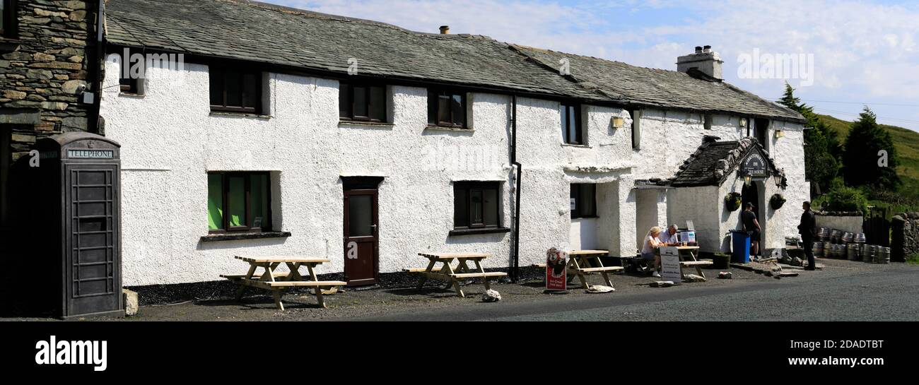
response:
[[[825,191],[839,175],[838,155],[834,153],[839,146],[838,133],[823,123],[812,107],[801,103],[794,92],[795,89],[786,83],[785,95],[778,103],[798,111],[806,119],[804,127],[811,130],[804,130],[804,175]]]

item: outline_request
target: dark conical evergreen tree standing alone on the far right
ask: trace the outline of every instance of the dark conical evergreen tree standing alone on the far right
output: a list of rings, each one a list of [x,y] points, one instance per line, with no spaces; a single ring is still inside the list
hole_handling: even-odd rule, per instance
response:
[[[891,133],[878,125],[878,117],[867,106],[858,117],[845,138],[845,184],[895,191],[902,181],[896,172],[900,160]],[[883,156],[881,151],[886,152],[886,164],[879,159]]]

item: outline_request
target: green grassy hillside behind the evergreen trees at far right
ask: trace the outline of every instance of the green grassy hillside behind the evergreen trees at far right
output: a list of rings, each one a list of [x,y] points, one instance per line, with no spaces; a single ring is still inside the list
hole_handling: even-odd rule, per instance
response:
[[[837,130],[839,142],[845,144],[845,137],[849,134],[852,122],[829,115],[820,115],[820,119]],[[891,132],[893,146],[900,157],[900,166],[897,167],[897,175],[903,181],[900,193],[909,198],[919,199],[919,132],[886,124],[880,127]]]

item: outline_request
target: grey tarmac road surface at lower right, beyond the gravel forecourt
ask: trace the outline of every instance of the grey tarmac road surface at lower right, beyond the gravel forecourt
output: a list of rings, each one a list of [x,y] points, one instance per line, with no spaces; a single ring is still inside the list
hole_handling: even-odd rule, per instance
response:
[[[822,261],[823,262],[823,261]],[[915,321],[919,266],[827,261],[781,282],[391,313],[361,321]]]

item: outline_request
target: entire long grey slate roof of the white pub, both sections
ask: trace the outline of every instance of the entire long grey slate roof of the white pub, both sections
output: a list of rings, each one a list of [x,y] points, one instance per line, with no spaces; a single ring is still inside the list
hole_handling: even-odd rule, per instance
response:
[[[725,83],[675,71],[509,45],[477,35],[414,32],[376,21],[244,0],[109,0],[110,43],[346,74],[496,88],[625,105],[803,121]],[[571,61],[562,76],[559,59]]]

